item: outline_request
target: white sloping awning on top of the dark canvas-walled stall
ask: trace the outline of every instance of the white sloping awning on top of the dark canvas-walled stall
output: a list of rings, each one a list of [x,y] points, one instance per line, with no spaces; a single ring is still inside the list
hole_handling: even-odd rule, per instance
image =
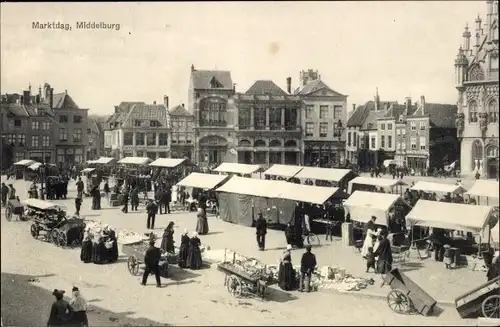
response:
[[[252,195],[263,198],[279,198],[283,182],[233,176],[217,192]]]

